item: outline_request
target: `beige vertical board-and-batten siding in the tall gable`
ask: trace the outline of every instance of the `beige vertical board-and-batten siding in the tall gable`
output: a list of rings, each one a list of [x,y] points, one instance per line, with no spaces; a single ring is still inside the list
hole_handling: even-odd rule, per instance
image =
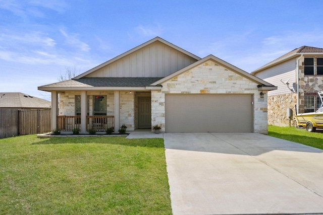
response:
[[[197,60],[156,41],[85,77],[166,77],[195,61]]]

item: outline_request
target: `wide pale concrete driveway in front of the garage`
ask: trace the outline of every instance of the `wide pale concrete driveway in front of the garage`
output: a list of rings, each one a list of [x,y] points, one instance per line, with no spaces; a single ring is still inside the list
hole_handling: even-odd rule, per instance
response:
[[[174,214],[323,214],[323,151],[258,133],[165,133]]]

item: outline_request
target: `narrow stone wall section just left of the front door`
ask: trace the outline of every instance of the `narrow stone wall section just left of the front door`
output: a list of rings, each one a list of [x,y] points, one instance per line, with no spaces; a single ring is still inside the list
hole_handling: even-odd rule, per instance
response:
[[[124,123],[127,130],[134,130],[134,93],[120,91],[120,126]],[[119,128],[118,128],[119,129]],[[115,128],[116,131],[118,131]]]

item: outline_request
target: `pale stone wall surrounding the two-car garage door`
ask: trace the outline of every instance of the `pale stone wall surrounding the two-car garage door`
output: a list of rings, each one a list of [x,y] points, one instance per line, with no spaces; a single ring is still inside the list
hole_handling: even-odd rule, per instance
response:
[[[256,133],[267,133],[267,102],[260,98],[257,84],[234,71],[208,60],[173,79],[162,83],[161,91],[151,92],[151,123],[165,131],[165,94],[251,94],[254,95]]]

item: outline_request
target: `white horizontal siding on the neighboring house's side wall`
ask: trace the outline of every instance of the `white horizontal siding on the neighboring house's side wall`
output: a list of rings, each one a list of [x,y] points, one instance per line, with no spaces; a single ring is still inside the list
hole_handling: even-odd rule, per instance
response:
[[[268,96],[288,94],[296,90],[295,68],[296,58],[293,58],[260,71],[255,76],[278,87],[277,90],[268,91]],[[289,83],[288,86],[284,84],[287,81]]]

